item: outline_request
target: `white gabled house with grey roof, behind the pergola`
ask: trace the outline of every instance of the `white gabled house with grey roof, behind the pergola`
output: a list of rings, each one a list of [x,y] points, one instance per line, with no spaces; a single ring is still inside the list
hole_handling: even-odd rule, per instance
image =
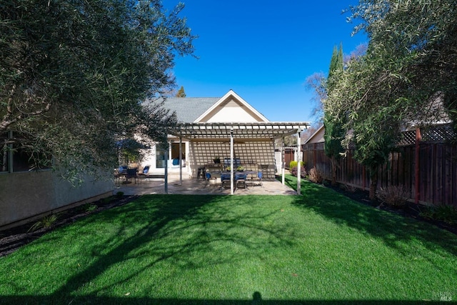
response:
[[[265,179],[274,179],[275,168],[281,168],[276,166],[274,140],[297,134],[309,125],[269,121],[233,90],[220,98],[170,98],[164,106],[175,111],[179,124],[169,131],[168,151],[161,144],[145,151],[141,166],[150,166],[156,173],[163,172],[167,164],[196,177],[201,166],[214,163],[219,156],[256,164]]]

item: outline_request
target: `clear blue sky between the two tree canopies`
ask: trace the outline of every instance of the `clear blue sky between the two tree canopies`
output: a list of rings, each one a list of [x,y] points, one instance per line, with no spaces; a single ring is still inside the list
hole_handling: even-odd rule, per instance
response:
[[[167,1],[169,2],[169,1]],[[187,0],[181,12],[195,55],[176,59],[178,88],[189,97],[221,97],[230,89],[270,121],[314,121],[305,80],[328,72],[333,46],[345,54],[367,41],[351,36],[341,14],[356,0]]]

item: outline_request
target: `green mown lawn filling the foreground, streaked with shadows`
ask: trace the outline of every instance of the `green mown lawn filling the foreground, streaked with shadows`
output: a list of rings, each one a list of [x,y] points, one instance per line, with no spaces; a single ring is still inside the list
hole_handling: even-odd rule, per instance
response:
[[[1,258],[0,303],[457,299],[457,236],[308,181],[302,194],[151,195],[91,214]]]

